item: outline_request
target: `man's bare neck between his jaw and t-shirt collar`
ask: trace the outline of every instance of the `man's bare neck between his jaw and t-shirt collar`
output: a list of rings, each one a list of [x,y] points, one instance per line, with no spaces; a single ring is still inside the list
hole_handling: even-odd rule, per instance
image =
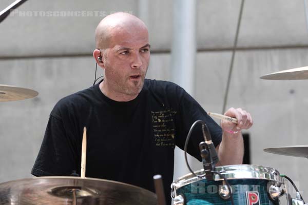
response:
[[[104,83],[105,82],[105,83]],[[114,100],[114,101],[119,101],[119,102],[127,102],[130,100],[133,100],[136,98],[138,95],[127,95],[124,93],[119,93],[115,92],[112,89],[109,89],[108,84],[106,83],[105,80],[103,80],[100,85],[100,90],[101,92],[108,98]]]

